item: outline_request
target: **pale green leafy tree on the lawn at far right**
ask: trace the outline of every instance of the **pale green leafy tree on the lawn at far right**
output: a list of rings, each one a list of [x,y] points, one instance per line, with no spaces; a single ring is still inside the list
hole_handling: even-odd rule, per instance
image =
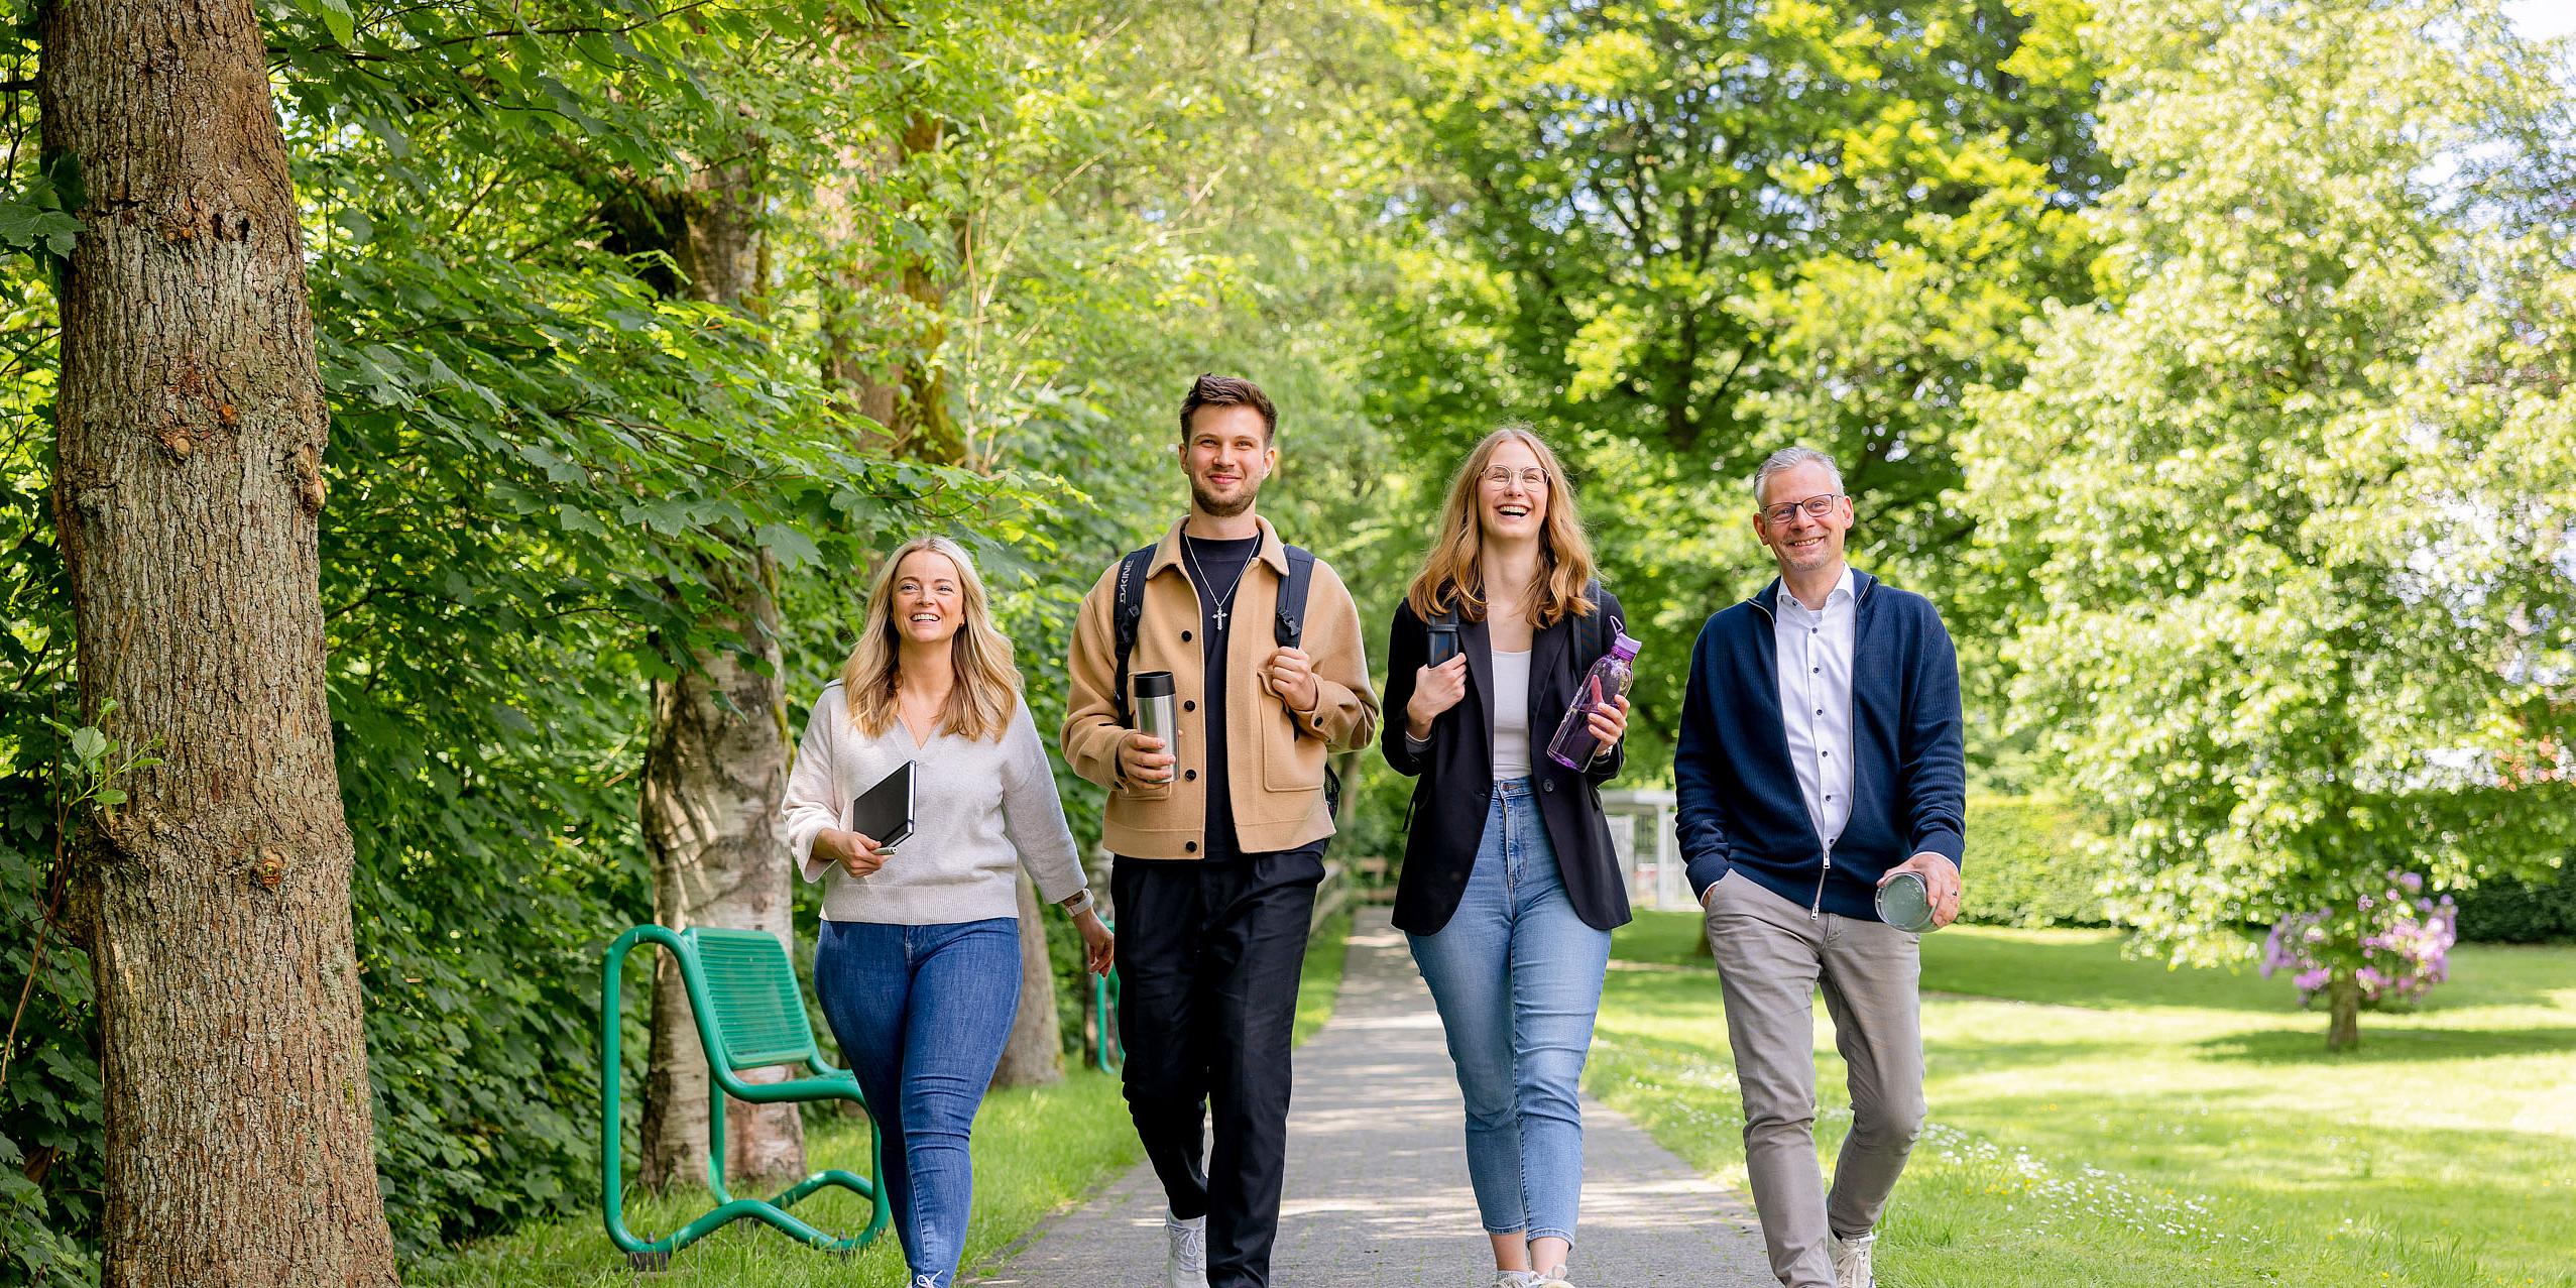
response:
[[[2352,1046],[2391,871],[2576,837],[2563,98],[2483,3],[2117,0],[2087,39],[2112,299],[2050,312],[1968,451],[2014,716],[2177,961],[2329,909]]]

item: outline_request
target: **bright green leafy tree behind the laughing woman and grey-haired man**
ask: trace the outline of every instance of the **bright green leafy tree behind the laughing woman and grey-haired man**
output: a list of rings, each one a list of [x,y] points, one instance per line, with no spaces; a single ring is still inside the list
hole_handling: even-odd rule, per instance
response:
[[[1414,237],[1370,407],[1422,471],[1510,417],[1569,448],[1646,644],[1641,742],[1700,621],[1767,577],[1765,453],[1842,461],[1865,564],[1904,577],[1960,541],[1963,392],[2012,381],[2022,319],[2092,289],[2081,5],[1383,10],[1388,209]]]

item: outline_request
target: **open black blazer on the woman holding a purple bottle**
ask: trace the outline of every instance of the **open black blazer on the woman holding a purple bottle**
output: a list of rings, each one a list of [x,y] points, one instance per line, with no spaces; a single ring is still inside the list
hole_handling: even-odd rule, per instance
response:
[[[1595,611],[1610,623],[1625,621],[1607,590]],[[1610,631],[1600,639],[1607,652]],[[1404,835],[1404,873],[1396,878],[1396,927],[1414,935],[1437,933],[1458,912],[1494,796],[1494,644],[1481,621],[1461,621],[1458,644],[1466,652],[1466,696],[1432,721],[1430,747],[1414,752],[1404,742],[1404,708],[1414,701],[1414,670],[1430,657],[1430,631],[1409,603],[1396,605],[1396,621],[1386,631],[1386,719],[1378,744],[1396,773],[1419,778]],[[1530,783],[1538,788],[1538,817],[1548,827],[1574,914],[1595,930],[1613,930],[1628,925],[1628,884],[1610,850],[1597,788],[1618,775],[1625,739],[1595,757],[1587,773],[1548,760],[1556,721],[1600,659],[1574,657],[1577,652],[1574,618],[1535,631],[1530,641]]]

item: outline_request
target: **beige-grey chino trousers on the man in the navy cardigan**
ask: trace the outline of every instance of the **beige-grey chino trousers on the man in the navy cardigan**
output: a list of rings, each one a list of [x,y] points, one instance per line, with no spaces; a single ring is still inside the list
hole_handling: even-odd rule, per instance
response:
[[[1710,886],[1705,930],[1772,1275],[1788,1288],[1834,1288],[1826,1234],[1852,1239],[1878,1226],[1922,1131],[1922,940],[1886,922],[1811,917],[1734,871]],[[1832,1193],[1816,1170],[1816,989],[1852,1090]]]

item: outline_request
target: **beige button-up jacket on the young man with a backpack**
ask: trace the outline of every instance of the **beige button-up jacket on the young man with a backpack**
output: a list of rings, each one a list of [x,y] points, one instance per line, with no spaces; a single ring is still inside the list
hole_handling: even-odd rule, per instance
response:
[[[1288,546],[1270,520],[1244,564],[1226,631],[1226,778],[1234,786],[1234,837],[1244,853],[1296,850],[1332,835],[1324,809],[1324,757],[1368,747],[1378,729],[1378,696],[1368,688],[1360,608],[1329,564],[1316,559],[1306,587],[1298,647],[1314,659],[1316,708],[1288,711],[1270,688],[1265,662],[1278,652],[1273,621],[1288,580]],[[1072,693],[1064,716],[1064,762],[1110,788],[1103,845],[1126,858],[1200,858],[1208,819],[1208,732],[1200,698],[1198,587],[1180,559],[1180,523],[1162,533],[1144,580],[1144,618],[1128,675],[1167,670],[1180,698],[1180,765],[1172,783],[1123,783],[1118,775],[1118,564],[1082,598]]]

